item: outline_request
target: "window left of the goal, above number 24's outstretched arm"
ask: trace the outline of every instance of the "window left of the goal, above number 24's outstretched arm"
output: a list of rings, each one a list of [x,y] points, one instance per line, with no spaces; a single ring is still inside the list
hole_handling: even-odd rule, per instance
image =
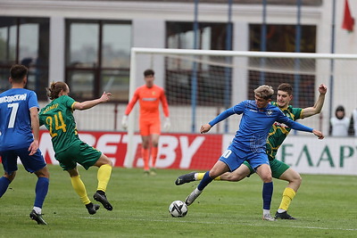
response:
[[[66,83],[77,100],[99,97],[129,99],[131,23],[129,21],[66,21]]]

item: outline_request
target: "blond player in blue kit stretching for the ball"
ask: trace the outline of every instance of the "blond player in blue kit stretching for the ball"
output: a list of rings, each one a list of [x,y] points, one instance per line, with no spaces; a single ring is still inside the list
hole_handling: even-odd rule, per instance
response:
[[[223,152],[211,170],[204,174],[202,181],[195,190],[187,196],[185,201],[187,205],[191,205],[215,177],[225,172],[236,170],[246,160],[263,181],[262,219],[275,220],[275,218],[270,215],[273,183],[270,162],[266,152],[266,140],[270,127],[275,121],[278,121],[295,130],[311,132],[317,135],[319,139],[323,139],[324,136],[316,129],[305,127],[287,118],[278,107],[271,105],[270,102],[273,94],[274,90],[271,86],[259,86],[254,90],[255,101],[246,100],[242,103],[238,103],[234,107],[223,111],[215,119],[212,119],[208,124],[201,127],[200,132],[206,133],[221,120],[227,119],[234,114],[242,114],[239,129],[232,144],[228,146],[226,152]]]

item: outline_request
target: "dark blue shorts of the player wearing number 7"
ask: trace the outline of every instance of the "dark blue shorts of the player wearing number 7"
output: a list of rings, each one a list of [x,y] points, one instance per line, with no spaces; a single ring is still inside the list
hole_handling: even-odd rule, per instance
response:
[[[33,155],[29,155],[29,148],[22,148],[11,151],[0,152],[1,160],[3,160],[4,171],[11,175],[17,171],[17,158],[19,157],[23,167],[30,173],[36,172],[46,166],[46,162],[40,150]]]

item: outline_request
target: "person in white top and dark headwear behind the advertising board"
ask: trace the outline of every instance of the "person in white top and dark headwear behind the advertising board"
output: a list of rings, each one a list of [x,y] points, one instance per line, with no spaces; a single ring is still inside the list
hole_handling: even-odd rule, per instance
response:
[[[339,105],[335,111],[335,117],[330,119],[329,135],[347,136],[350,118],[345,117],[345,108]]]

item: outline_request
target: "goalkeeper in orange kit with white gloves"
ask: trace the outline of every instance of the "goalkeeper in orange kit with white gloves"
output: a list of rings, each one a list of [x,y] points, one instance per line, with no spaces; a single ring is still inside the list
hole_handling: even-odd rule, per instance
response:
[[[159,137],[161,133],[161,120],[159,104],[162,103],[162,110],[165,116],[164,129],[170,128],[169,104],[167,103],[165,92],[162,87],[154,85],[154,70],[144,71],[145,85],[137,87],[131,98],[121,125],[124,129],[128,127],[128,115],[139,101],[139,128],[143,141],[142,156],[144,160],[145,175],[155,175],[155,164],[158,154]],[[151,144],[150,144],[151,141]],[[151,145],[151,146],[150,146]],[[151,165],[149,165],[149,152],[151,152]]]

